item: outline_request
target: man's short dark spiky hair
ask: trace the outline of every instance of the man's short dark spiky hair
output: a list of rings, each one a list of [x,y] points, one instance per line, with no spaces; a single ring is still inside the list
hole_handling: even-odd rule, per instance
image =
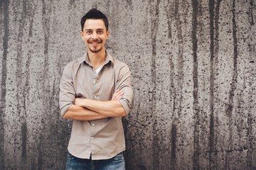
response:
[[[97,8],[92,8],[90,9],[90,11],[88,11],[87,13],[85,13],[85,16],[82,16],[81,18],[81,27],[82,27],[82,31],[83,28],[85,26],[85,21],[87,19],[102,19],[103,22],[105,23],[105,26],[108,30],[108,20],[107,20],[107,16],[105,16],[104,13],[102,13],[101,11],[97,10]]]

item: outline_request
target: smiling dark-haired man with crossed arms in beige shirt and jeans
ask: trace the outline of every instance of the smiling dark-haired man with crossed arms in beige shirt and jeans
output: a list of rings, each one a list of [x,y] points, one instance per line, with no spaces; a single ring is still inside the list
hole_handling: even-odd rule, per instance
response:
[[[85,55],[67,64],[60,81],[60,114],[73,120],[66,169],[124,169],[122,117],[132,105],[127,64],[106,50],[107,17],[95,8],[81,19]]]

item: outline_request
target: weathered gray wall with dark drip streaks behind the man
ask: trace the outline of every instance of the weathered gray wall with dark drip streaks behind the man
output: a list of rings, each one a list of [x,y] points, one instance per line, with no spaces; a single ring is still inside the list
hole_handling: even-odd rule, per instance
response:
[[[64,169],[58,84],[80,18],[110,19],[133,75],[127,169],[256,169],[255,0],[1,0],[0,169]]]

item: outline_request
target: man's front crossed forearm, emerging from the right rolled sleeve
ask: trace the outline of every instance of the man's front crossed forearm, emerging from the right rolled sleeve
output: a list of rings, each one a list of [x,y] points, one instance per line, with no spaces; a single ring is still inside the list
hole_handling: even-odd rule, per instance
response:
[[[75,103],[83,108],[88,108],[107,117],[125,116],[124,108],[119,101],[94,101],[87,98],[79,98]]]

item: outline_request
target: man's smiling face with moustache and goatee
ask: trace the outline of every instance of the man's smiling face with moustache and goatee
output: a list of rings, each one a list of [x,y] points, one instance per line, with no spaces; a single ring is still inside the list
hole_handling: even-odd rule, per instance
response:
[[[85,41],[87,50],[96,53],[105,50],[105,44],[110,31],[107,30],[102,19],[87,19],[80,34],[82,40]]]

